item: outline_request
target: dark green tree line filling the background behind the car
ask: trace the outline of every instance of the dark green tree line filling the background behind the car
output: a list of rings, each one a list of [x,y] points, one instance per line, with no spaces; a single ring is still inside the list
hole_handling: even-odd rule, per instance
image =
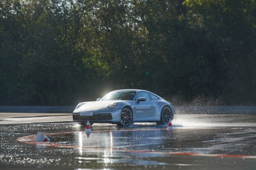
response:
[[[114,89],[256,104],[254,0],[0,2],[0,105],[76,105]]]

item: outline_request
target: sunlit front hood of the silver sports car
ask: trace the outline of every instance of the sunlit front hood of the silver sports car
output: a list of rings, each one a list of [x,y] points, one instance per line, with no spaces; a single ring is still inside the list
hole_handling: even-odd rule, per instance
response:
[[[90,110],[101,110],[108,107],[111,103],[117,101],[95,101],[95,102],[84,102],[84,104],[79,107],[77,110],[80,111],[90,111]]]

